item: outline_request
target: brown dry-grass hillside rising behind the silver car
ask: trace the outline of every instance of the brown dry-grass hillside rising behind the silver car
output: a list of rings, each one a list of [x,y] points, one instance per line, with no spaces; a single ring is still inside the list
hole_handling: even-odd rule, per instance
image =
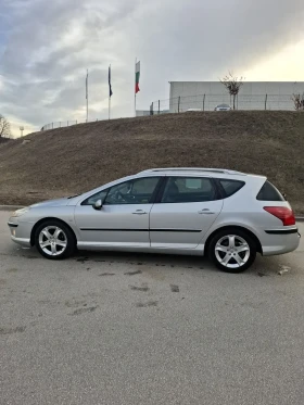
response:
[[[304,113],[189,112],[30,134],[0,144],[0,204],[78,193],[157,166],[264,174],[304,213]]]

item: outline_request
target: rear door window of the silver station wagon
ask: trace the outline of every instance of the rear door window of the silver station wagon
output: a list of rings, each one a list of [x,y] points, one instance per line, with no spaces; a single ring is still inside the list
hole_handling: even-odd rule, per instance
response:
[[[216,200],[216,190],[210,178],[170,177],[162,203],[186,203]]]

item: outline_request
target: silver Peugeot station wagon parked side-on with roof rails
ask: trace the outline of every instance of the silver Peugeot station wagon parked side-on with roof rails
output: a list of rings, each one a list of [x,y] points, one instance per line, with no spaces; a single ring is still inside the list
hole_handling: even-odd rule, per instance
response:
[[[87,193],[17,210],[12,240],[60,260],[79,250],[207,255],[229,273],[300,243],[290,204],[266,177],[154,168]]]

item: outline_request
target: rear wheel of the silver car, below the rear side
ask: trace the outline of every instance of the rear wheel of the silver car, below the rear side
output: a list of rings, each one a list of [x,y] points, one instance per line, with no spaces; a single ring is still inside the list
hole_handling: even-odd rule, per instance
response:
[[[242,273],[255,261],[256,244],[251,236],[241,229],[219,230],[210,242],[208,257],[221,271]]]

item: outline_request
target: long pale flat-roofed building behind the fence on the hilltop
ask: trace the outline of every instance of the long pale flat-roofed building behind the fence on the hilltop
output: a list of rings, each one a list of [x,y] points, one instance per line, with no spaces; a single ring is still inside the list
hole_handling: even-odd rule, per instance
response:
[[[236,100],[238,110],[294,110],[293,94],[304,97],[304,81],[244,81]],[[220,81],[170,81],[170,112],[213,111],[232,100]]]

